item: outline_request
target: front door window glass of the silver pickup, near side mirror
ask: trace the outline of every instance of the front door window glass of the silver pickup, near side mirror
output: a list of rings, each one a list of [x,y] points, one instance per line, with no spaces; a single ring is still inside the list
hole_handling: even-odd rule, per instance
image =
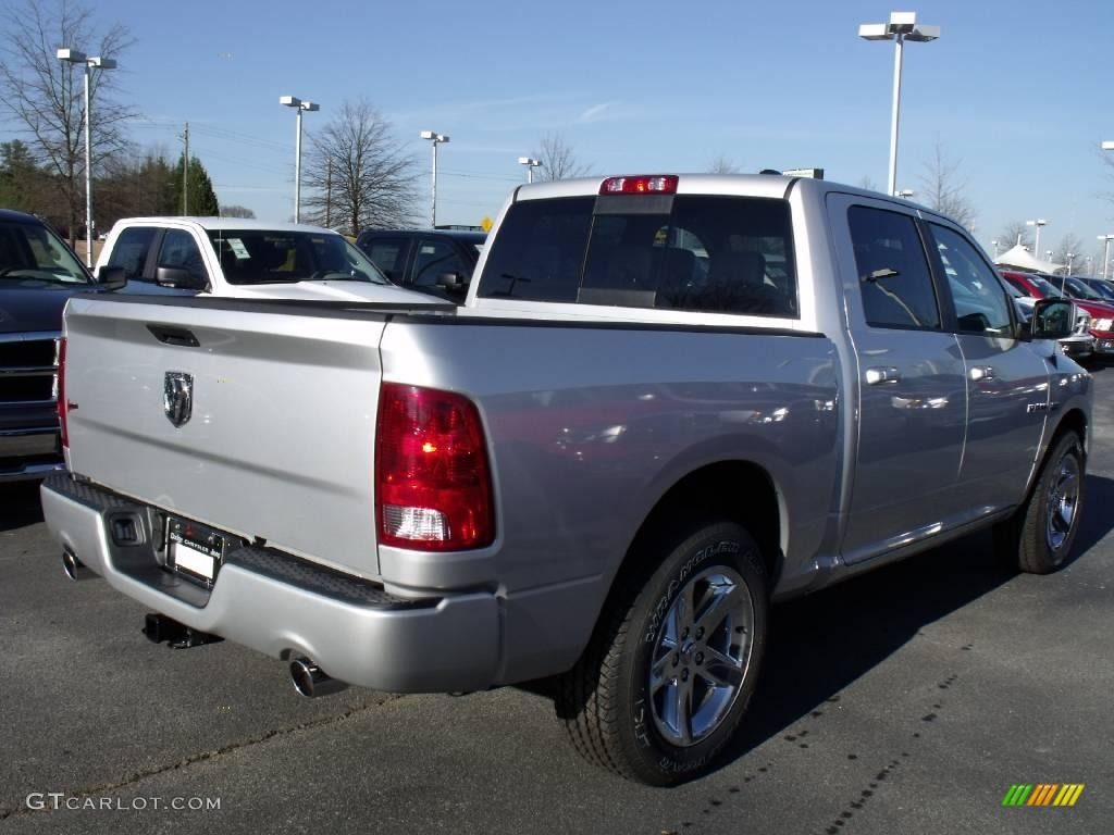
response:
[[[960,333],[1012,336],[1014,323],[998,276],[959,233],[929,224]]]

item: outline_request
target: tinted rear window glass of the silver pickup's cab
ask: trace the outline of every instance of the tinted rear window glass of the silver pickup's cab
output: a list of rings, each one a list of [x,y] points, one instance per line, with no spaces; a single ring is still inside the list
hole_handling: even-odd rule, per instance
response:
[[[635,210],[595,197],[512,206],[491,245],[480,295],[798,315],[784,200],[678,195],[647,202],[655,213],[625,206]]]

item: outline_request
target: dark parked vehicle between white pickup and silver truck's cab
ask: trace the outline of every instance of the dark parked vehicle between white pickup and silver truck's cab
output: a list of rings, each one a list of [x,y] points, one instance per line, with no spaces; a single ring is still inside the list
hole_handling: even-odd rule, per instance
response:
[[[458,229],[364,229],[356,246],[395,284],[460,302],[486,239]]]

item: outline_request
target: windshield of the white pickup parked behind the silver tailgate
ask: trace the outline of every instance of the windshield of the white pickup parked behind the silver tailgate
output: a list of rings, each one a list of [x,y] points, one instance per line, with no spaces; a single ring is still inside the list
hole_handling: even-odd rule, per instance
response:
[[[335,233],[212,229],[208,237],[229,284],[390,284],[363,253]]]

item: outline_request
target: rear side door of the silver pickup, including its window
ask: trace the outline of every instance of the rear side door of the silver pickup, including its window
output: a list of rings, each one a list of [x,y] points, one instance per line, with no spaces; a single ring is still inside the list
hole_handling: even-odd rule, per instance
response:
[[[945,328],[913,215],[849,195],[828,200],[859,377],[847,562],[956,523],[967,416],[964,360]],[[842,234],[840,234],[842,230]]]

